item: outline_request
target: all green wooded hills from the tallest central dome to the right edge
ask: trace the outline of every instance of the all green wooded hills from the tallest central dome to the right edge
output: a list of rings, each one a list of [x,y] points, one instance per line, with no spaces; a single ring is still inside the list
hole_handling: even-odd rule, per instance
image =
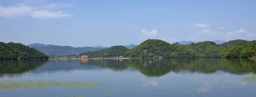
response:
[[[139,46],[125,53],[129,58],[219,58],[219,57],[252,57],[256,55],[255,44],[246,40],[232,40],[223,44],[212,41],[180,45],[170,44],[163,40],[146,40]],[[236,45],[238,44],[238,45]],[[236,45],[236,46],[234,46]],[[234,47],[232,47],[234,46]],[[229,49],[230,48],[230,49]],[[143,51],[147,50],[146,53]]]

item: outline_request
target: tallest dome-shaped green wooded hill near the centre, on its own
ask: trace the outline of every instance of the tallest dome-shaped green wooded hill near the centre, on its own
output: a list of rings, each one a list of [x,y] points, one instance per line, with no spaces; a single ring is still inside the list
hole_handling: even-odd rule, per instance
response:
[[[147,50],[144,53],[144,50]],[[174,46],[163,40],[145,40],[139,46],[136,46],[125,53],[125,57],[130,58],[147,58],[147,57],[164,57],[170,58],[171,53],[175,51]]]

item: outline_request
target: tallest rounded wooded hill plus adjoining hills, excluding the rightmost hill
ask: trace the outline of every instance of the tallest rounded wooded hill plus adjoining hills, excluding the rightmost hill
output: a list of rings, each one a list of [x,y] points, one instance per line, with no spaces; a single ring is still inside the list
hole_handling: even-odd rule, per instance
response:
[[[145,54],[143,50],[147,50]],[[221,57],[227,48],[211,41],[180,45],[170,44],[162,40],[146,40],[139,46],[125,53],[130,58],[217,58]]]

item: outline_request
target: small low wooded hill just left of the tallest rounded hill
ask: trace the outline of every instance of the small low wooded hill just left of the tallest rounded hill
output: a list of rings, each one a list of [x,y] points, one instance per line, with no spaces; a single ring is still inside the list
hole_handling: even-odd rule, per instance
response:
[[[129,49],[125,46],[111,46],[108,49],[101,49],[99,51],[87,51],[85,53],[81,53],[80,56],[88,55],[88,58],[112,58],[123,56],[128,50]]]

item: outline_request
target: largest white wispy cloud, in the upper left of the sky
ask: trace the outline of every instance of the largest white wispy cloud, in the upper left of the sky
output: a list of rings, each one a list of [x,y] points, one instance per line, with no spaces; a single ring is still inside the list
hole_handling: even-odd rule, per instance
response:
[[[58,5],[48,5],[48,7],[56,6]],[[66,7],[67,6],[68,5],[66,5]],[[72,16],[72,14],[64,14],[62,11],[49,11],[47,10],[47,7],[44,8],[45,9],[41,8],[41,10],[39,10],[39,7],[26,6],[25,4],[15,4],[13,6],[8,7],[0,6],[0,17],[15,18],[19,16],[30,16],[36,19],[41,19]]]

